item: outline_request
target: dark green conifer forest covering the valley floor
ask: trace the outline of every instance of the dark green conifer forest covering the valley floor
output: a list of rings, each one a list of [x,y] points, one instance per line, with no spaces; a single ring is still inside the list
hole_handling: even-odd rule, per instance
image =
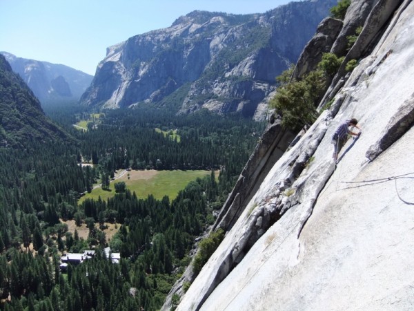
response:
[[[103,111],[96,119],[77,104],[43,110],[65,135],[30,139],[30,129],[16,123],[19,129],[8,133],[19,137],[8,136],[15,143],[0,147],[0,309],[159,310],[264,124],[239,115],[175,115],[142,106]],[[73,126],[80,120],[90,120],[86,131]],[[175,198],[141,198],[115,184],[111,198],[79,202],[126,169],[210,173]],[[87,237],[79,236],[81,225]],[[108,225],[115,225],[110,238]],[[62,265],[62,256],[88,252],[93,256]]]

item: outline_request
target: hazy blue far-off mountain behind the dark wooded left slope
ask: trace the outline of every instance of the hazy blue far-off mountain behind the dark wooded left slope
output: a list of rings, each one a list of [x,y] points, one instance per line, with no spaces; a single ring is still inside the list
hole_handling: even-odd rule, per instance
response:
[[[73,100],[77,102],[92,82],[92,75],[60,64],[40,62],[1,52],[12,70],[28,84],[41,101]]]

